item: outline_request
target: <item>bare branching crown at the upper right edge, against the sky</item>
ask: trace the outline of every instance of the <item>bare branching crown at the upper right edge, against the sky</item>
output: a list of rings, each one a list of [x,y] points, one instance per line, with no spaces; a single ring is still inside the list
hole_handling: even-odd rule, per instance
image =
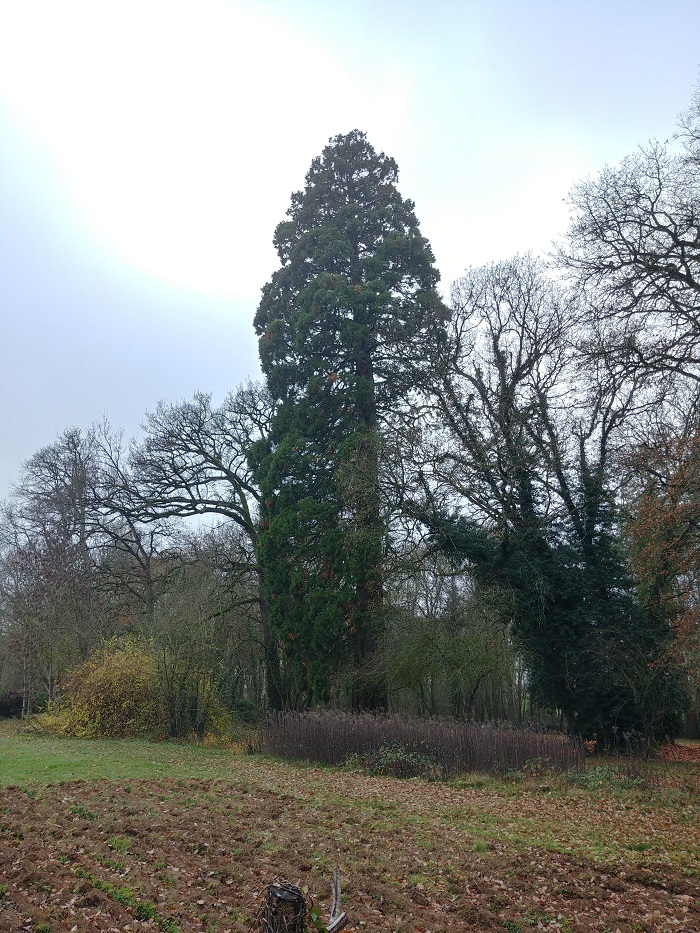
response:
[[[672,143],[576,186],[559,261],[628,370],[700,380],[700,92]],[[595,347],[592,349],[595,350]]]

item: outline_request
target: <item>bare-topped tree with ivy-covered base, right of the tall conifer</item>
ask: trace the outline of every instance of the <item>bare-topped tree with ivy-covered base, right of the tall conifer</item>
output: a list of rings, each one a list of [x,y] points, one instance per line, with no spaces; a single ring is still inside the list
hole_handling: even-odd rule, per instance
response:
[[[459,493],[423,479],[414,514],[480,588],[512,594],[535,701],[587,738],[672,735],[670,629],[640,606],[619,533],[613,457],[635,386],[581,370],[575,300],[530,259],[470,270],[453,300],[433,469]]]

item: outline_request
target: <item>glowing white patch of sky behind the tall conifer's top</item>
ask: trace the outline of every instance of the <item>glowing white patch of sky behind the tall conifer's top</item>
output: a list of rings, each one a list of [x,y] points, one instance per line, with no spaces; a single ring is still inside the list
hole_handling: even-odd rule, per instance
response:
[[[597,164],[580,134],[504,119],[497,55],[474,46],[444,66],[391,32],[377,54],[302,7],[7,0],[0,108],[109,254],[241,307],[276,266],[272,233],[311,159],[355,127],[398,159],[445,288],[468,264],[549,248],[566,192]]]

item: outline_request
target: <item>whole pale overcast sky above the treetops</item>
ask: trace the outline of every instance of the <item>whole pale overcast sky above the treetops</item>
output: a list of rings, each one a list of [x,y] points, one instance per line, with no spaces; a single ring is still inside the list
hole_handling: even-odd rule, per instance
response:
[[[447,294],[546,251],[699,76],[700,0],[0,0],[0,499],[67,427],[258,375],[331,136],[397,160]]]

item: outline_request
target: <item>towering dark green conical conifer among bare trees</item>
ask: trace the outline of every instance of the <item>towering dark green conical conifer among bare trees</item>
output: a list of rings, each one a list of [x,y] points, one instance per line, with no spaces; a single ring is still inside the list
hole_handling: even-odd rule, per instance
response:
[[[385,417],[442,339],[439,274],[393,159],[357,130],[314,159],[275,232],[281,267],[255,318],[277,402],[254,455],[259,557],[287,658],[288,697],[325,699],[381,631]],[[381,696],[354,678],[356,706]]]

